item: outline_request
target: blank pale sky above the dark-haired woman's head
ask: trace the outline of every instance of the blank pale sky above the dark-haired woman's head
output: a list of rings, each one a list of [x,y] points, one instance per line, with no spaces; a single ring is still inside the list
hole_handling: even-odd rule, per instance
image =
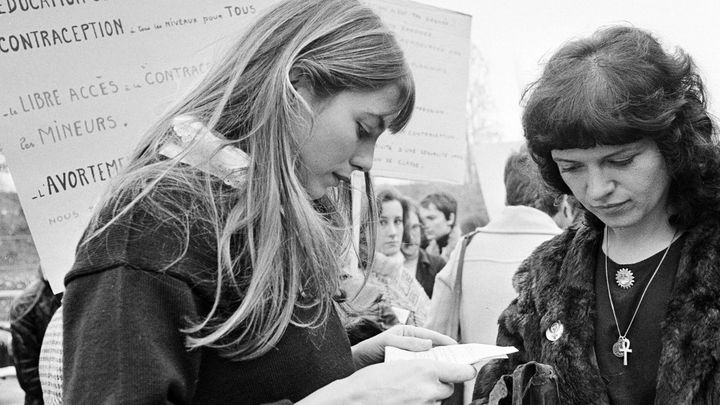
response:
[[[597,27],[626,22],[681,46],[695,60],[720,113],[720,1],[669,0],[417,0],[472,16],[472,41],[488,63],[488,90],[507,140],[520,139],[518,100],[540,62],[563,42]],[[689,5],[688,5],[689,4]]]

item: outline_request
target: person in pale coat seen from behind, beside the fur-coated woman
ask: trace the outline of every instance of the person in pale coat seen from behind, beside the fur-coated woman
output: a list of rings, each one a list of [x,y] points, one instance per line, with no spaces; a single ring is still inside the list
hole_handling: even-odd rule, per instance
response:
[[[545,189],[525,148],[507,159],[504,180],[503,211],[478,228],[464,257],[456,248],[435,278],[425,326],[461,343],[495,344],[498,318],[517,295],[512,284],[515,270],[538,245],[561,232],[552,218],[558,211],[556,195]],[[456,285],[460,261],[463,270]],[[454,296],[461,291],[458,308]],[[465,384],[465,398],[470,398],[472,388],[472,382]]]

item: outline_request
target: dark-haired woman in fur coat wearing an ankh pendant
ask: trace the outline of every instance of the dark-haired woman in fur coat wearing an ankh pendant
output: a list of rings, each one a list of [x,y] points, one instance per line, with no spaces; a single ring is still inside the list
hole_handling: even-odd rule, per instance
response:
[[[720,149],[691,58],[602,29],[557,51],[526,97],[530,153],[585,220],[515,275],[497,343],[520,351],[481,370],[477,402],[534,361],[562,404],[717,403]]]

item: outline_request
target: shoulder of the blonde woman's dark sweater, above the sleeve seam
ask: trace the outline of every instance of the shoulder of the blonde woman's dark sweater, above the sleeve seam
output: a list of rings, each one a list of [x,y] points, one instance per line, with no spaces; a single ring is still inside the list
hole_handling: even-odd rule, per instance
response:
[[[156,193],[167,193],[159,187]],[[97,217],[94,229],[102,229],[89,237],[86,230],[78,245],[75,263],[65,278],[123,266],[152,272],[169,272],[190,281],[194,275],[216,267],[215,232],[201,215],[192,215],[200,204],[190,193],[175,191],[172,200],[140,200],[129,206],[128,201],[106,204]],[[119,208],[118,208],[119,207]],[[117,215],[122,212],[121,215]]]

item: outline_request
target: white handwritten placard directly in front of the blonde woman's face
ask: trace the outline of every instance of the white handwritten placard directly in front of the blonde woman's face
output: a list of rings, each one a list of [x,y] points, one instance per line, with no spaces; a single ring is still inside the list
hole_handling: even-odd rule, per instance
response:
[[[406,0],[366,0],[396,33],[415,76],[415,115],[385,135],[373,172],[407,180],[462,184],[471,17]]]

